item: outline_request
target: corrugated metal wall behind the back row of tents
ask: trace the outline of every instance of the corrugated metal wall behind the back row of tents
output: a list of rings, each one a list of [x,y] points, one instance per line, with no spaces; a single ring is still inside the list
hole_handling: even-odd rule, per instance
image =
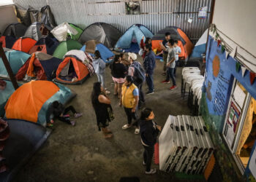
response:
[[[208,28],[208,17],[198,19],[197,11],[199,7],[207,6],[210,12],[211,0],[141,1],[140,12],[143,15],[125,15],[124,0],[96,3],[106,1],[113,0],[14,0],[16,4],[25,8],[31,5],[39,9],[48,4],[56,23],[67,21],[81,28],[86,28],[91,23],[105,22],[124,32],[132,24],[140,23],[146,25],[153,33],[157,33],[167,25],[174,25],[183,29],[189,38],[195,41]],[[187,22],[189,17],[192,17],[192,23]]]

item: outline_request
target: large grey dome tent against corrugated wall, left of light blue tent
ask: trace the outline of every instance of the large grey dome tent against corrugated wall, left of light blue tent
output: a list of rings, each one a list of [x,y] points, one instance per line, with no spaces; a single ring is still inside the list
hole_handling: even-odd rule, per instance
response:
[[[84,44],[89,40],[97,40],[110,48],[115,46],[120,36],[121,32],[108,23],[93,23],[84,29],[79,41]]]

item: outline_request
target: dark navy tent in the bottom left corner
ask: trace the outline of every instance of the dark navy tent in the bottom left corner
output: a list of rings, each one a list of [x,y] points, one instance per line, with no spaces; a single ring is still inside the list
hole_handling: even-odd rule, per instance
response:
[[[2,155],[6,159],[9,170],[0,174],[0,181],[8,182],[13,180],[34,152],[47,140],[50,130],[23,120],[4,120],[8,122],[10,136],[4,145]]]

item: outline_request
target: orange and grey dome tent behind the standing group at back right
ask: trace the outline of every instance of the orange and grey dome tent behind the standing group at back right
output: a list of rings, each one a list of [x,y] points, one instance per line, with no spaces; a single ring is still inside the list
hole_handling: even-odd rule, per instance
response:
[[[152,50],[157,49],[160,52],[162,49],[160,47],[159,41],[165,39],[165,33],[170,32],[170,38],[174,40],[178,40],[178,46],[181,47],[181,54],[178,55],[179,58],[187,60],[194,45],[190,41],[189,37],[187,36],[181,28],[177,28],[174,26],[165,27],[164,29],[158,31],[156,35],[153,36],[151,44]]]

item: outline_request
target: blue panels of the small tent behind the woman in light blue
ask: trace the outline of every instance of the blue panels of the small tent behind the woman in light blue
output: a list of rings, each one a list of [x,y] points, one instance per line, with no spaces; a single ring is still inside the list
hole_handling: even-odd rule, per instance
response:
[[[80,49],[83,52],[86,51],[86,45],[83,45],[83,47]],[[97,44],[95,50],[98,50],[100,55],[102,56],[102,60],[105,61],[105,63],[111,63],[113,60],[110,59],[114,56],[113,52],[111,52],[108,47],[105,47],[103,44]],[[89,53],[92,57],[94,57],[94,54]]]

